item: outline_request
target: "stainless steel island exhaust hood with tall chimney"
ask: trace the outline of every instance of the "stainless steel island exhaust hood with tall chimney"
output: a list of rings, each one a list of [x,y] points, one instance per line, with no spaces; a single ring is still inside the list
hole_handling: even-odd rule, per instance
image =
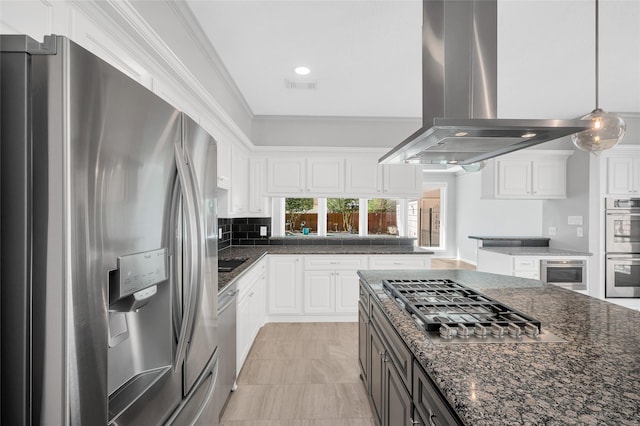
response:
[[[496,0],[424,0],[423,18],[423,127],[380,163],[468,165],[589,128],[575,119],[496,118]]]

